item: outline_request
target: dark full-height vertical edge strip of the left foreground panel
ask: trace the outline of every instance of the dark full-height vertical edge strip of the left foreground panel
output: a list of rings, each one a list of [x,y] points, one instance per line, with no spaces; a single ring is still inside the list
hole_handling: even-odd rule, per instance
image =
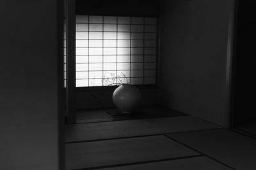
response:
[[[58,169],[65,169],[65,111],[64,111],[64,45],[63,45],[63,26],[64,26],[64,2],[63,0],[57,0],[57,80],[58,80]]]

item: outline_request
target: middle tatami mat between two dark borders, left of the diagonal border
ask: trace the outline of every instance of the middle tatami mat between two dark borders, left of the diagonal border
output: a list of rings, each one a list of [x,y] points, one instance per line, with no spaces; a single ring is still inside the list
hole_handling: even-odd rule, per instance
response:
[[[66,168],[82,169],[200,155],[164,135],[66,144]]]

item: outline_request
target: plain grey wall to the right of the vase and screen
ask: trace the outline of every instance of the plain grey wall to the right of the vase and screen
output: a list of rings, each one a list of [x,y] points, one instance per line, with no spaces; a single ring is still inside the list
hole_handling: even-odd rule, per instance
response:
[[[163,1],[160,10],[159,100],[225,127],[233,4],[232,0],[173,0]]]

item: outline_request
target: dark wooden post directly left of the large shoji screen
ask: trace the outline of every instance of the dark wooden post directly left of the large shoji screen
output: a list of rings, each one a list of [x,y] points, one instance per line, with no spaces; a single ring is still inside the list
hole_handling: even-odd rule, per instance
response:
[[[76,0],[66,0],[68,124],[76,123]]]

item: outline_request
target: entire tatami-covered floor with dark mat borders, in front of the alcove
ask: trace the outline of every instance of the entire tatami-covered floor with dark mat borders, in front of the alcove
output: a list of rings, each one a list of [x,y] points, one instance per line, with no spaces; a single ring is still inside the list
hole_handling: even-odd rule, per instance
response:
[[[67,125],[67,169],[256,169],[256,140],[192,116]]]

